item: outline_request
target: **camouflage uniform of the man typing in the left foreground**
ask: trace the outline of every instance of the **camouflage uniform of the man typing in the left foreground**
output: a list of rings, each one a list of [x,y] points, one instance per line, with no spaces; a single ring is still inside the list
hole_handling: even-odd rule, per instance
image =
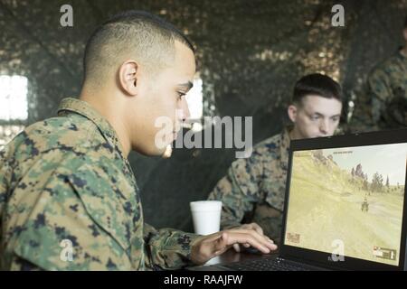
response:
[[[189,262],[197,236],[144,223],[117,135],[86,102],[63,99],[59,117],[27,127],[0,157],[0,269],[145,270]],[[63,242],[71,242],[71,261]]]

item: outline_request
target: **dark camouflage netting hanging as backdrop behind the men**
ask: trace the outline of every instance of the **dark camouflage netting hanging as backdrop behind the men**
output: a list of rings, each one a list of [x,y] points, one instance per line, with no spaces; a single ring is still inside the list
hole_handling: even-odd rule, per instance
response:
[[[345,27],[331,26],[338,3]],[[71,28],[60,25],[64,4],[73,7]],[[305,73],[325,72],[343,84],[347,100],[357,96],[367,71],[402,44],[407,1],[0,0],[0,75],[28,78],[24,125],[54,116],[62,98],[79,94],[86,40],[127,9],[161,14],[190,36],[204,115],[253,116],[256,143],[287,121],[293,83]],[[233,158],[232,149],[179,149],[169,160],[130,154],[147,222],[191,230],[189,201],[205,199]]]

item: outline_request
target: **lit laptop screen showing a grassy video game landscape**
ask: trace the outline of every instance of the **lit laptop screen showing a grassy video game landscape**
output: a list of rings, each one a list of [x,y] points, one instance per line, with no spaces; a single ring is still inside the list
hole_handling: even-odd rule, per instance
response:
[[[295,151],[285,245],[399,266],[407,144]]]

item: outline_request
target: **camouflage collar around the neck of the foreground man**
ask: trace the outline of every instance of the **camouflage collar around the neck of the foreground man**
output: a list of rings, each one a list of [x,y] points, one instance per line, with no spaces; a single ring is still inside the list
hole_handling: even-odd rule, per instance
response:
[[[123,154],[123,147],[118,141],[118,135],[113,126],[109,124],[106,118],[102,117],[93,107],[91,107],[89,103],[77,98],[63,98],[58,107],[58,115],[62,116],[63,111],[67,110],[90,119],[96,126],[98,126],[99,131],[109,144],[118,150],[118,153],[121,154],[125,160],[127,159]]]

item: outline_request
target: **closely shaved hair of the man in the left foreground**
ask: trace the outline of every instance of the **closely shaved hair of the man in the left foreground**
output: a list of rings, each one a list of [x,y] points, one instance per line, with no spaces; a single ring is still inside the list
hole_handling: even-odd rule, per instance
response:
[[[175,40],[194,51],[184,33],[154,14],[136,10],[116,14],[91,34],[83,57],[84,77],[103,81],[107,70],[129,57],[147,70],[165,67],[175,57]]]

